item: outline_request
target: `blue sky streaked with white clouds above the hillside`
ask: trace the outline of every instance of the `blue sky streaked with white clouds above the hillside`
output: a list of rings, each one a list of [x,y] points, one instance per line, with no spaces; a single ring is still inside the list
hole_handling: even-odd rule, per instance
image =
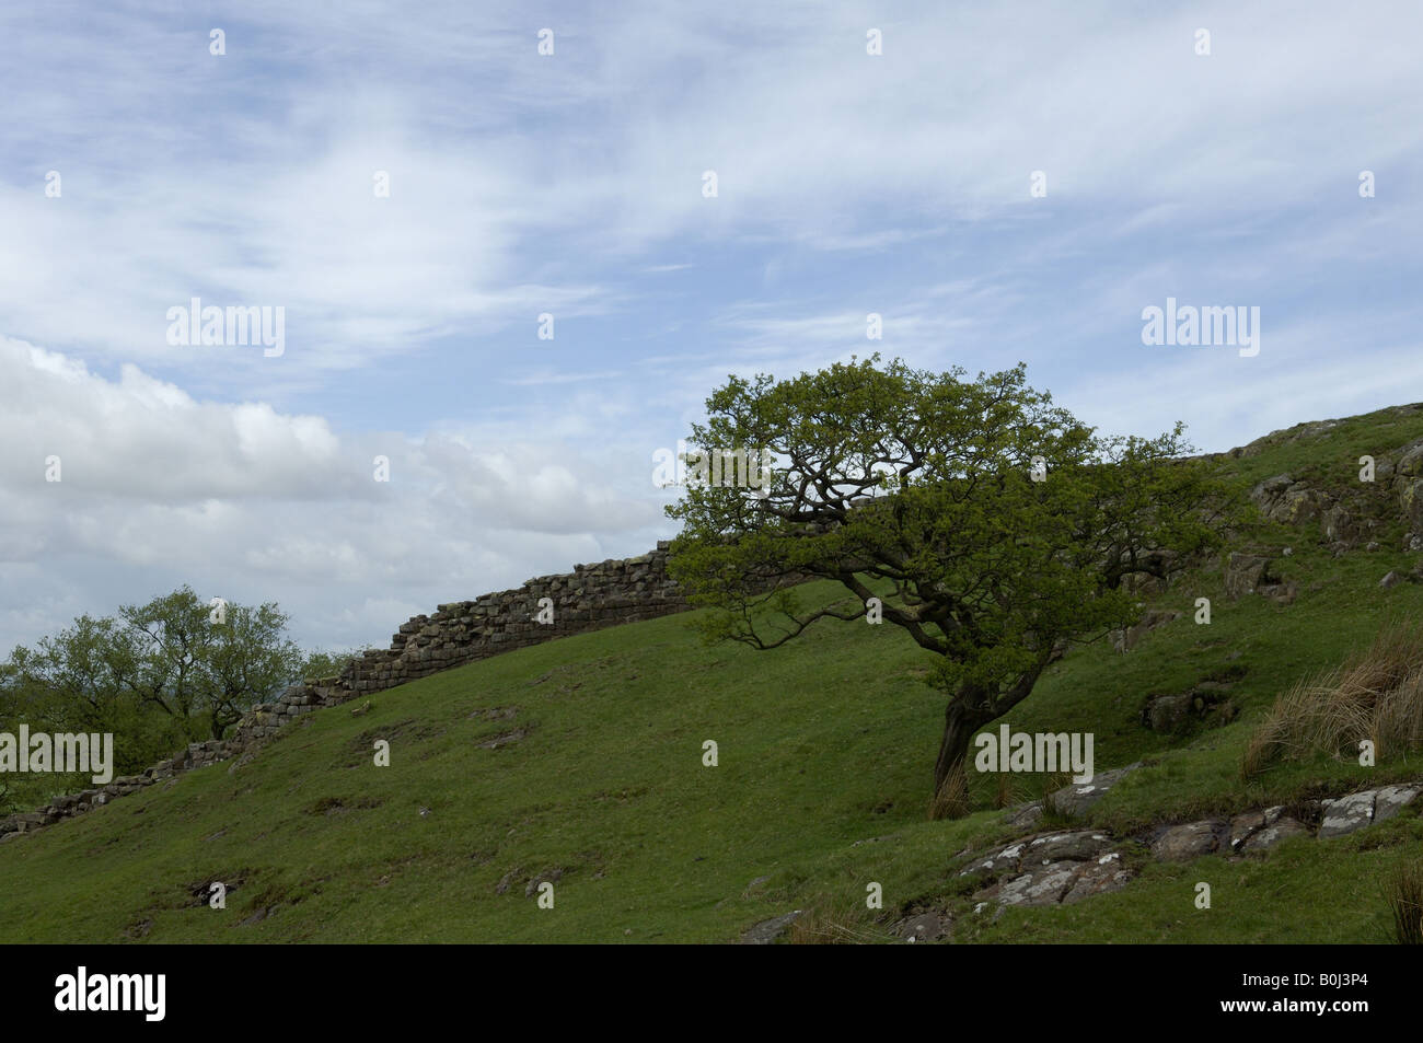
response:
[[[1201,451],[1423,400],[1420,34],[1370,0],[6,4],[0,655],[182,583],[384,647],[642,554],[729,374],[1023,361]],[[194,299],[280,309],[280,350],[181,343]],[[1259,309],[1258,353],[1144,343],[1168,299]]]

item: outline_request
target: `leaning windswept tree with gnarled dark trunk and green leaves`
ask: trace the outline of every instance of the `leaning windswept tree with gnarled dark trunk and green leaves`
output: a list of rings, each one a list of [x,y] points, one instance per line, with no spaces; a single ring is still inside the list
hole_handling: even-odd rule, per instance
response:
[[[939,798],[966,793],[973,733],[1070,643],[1136,622],[1133,578],[1167,579],[1215,542],[1217,485],[1183,460],[1181,424],[1099,437],[1027,387],[1022,364],[968,381],[878,363],[731,377],[713,393],[694,444],[727,460],[770,452],[773,474],[763,488],[731,468],[689,482],[667,508],[683,522],[669,568],[720,609],[713,639],[771,649],[871,610],[904,628],[933,653],[928,680],[945,697]],[[852,600],[805,609],[791,588],[813,578]]]

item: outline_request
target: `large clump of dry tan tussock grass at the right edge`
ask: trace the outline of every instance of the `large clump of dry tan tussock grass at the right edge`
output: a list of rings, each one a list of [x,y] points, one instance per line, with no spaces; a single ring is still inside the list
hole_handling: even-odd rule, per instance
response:
[[[1252,778],[1276,760],[1350,760],[1365,738],[1379,760],[1423,746],[1423,623],[1416,619],[1386,623],[1368,647],[1279,696],[1251,736],[1241,770]]]

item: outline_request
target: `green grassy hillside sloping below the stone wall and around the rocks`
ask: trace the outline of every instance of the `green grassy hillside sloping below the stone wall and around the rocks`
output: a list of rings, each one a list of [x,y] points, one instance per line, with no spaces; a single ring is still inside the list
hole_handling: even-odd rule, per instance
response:
[[[1232,465],[1242,492],[1281,471],[1342,485],[1360,454],[1419,435],[1420,415],[1373,414],[1286,433]],[[1099,773],[1146,758],[1091,812],[1118,834],[1423,775],[1417,760],[1321,760],[1239,778],[1251,729],[1281,690],[1368,643],[1387,615],[1423,619],[1423,583],[1377,586],[1417,558],[1396,549],[1402,532],[1336,558],[1318,526],[1261,524],[1242,539],[1292,548],[1276,565],[1298,582],[1294,603],[1232,602],[1217,571],[1188,576],[1151,602],[1180,619],[1126,655],[1103,643],[1072,653],[1006,723],[1094,733]],[[808,595],[838,596],[828,583]],[[1191,619],[1197,596],[1212,599],[1210,626]],[[704,647],[689,619],[450,670],[373,696],[359,717],[322,710],[240,767],[0,844],[0,941],[720,942],[791,909],[872,941],[901,911],[962,906],[955,855],[1006,837],[992,804],[1035,798],[1044,780],[1012,777],[1016,791],[1002,794],[976,778],[973,815],[926,820],[943,710],[919,682],[926,655],[862,622],[824,622],[774,652]],[[1177,736],[1141,724],[1148,696],[1220,677],[1235,679],[1228,721]],[[390,767],[373,764],[377,738]],[[719,744],[717,767],[702,763],[704,740]],[[966,918],[955,941],[1386,941],[1377,881],[1420,855],[1410,808],[1265,858],[1143,859],[1117,894]],[[555,908],[541,909],[525,889],[555,869]],[[206,906],[213,879],[229,886],[225,911]],[[884,886],[879,921],[862,909],[871,881]],[[1191,904],[1197,881],[1212,884],[1210,912]]]

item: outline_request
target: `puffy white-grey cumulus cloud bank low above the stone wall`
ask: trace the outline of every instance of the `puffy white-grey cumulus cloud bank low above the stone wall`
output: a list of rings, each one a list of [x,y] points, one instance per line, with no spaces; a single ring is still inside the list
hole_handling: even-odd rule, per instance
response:
[[[9,337],[0,387],[6,645],[181,582],[277,600],[310,640],[380,642],[403,618],[376,608],[635,554],[659,528],[633,472],[552,441],[339,433],[199,401],[131,364],[110,380]]]

